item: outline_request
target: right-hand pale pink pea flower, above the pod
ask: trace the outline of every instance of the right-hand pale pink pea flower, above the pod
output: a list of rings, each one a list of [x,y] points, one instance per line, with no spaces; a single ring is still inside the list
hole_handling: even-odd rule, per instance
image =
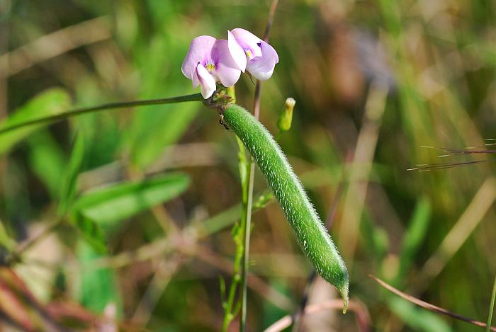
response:
[[[232,58],[241,71],[246,70],[261,81],[272,76],[279,62],[274,47],[241,28],[227,30],[227,40]]]

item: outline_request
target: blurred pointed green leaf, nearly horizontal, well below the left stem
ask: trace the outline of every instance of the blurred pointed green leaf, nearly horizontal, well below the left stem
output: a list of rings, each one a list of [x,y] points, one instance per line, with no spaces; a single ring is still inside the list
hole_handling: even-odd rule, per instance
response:
[[[119,183],[83,195],[74,205],[73,212],[98,222],[105,229],[112,227],[115,222],[175,198],[188,185],[189,177],[184,173]]]

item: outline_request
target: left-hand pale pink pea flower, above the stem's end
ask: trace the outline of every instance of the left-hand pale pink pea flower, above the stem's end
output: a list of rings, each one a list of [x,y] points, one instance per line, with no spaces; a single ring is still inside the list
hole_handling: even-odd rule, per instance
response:
[[[232,86],[241,75],[229,52],[227,40],[216,40],[209,35],[193,39],[181,71],[193,81],[193,88],[201,86],[201,95],[205,99],[213,95],[218,81],[223,86]]]

